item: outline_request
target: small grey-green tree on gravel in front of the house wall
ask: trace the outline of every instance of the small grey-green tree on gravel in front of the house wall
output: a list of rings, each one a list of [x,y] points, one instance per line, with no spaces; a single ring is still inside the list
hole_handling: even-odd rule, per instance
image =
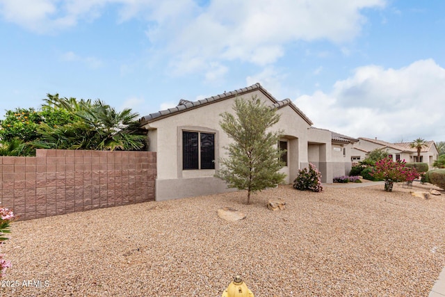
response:
[[[220,126],[229,138],[233,139],[227,147],[227,158],[220,159],[222,168],[216,175],[225,180],[229,188],[250,193],[273,187],[284,180],[280,156],[284,151],[277,150],[281,131],[268,131],[280,120],[275,109],[264,105],[259,98],[236,98],[235,116],[231,113],[220,114]]]

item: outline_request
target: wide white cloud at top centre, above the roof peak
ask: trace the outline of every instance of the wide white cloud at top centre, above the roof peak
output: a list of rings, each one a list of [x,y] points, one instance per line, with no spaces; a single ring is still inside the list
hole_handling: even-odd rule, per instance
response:
[[[177,27],[174,36],[163,36],[168,38],[165,42],[176,57],[173,66],[197,57],[200,61],[236,59],[268,65],[285,54],[289,42],[352,40],[366,22],[360,10],[383,6],[385,2],[381,0],[285,0],[280,5],[270,0],[215,0],[186,26]],[[172,32],[167,29],[170,26],[174,25],[159,22],[156,32]]]

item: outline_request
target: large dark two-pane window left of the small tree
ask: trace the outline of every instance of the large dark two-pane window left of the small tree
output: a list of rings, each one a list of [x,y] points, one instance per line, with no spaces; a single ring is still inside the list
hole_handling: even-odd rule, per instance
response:
[[[215,169],[215,134],[182,131],[182,169]]]

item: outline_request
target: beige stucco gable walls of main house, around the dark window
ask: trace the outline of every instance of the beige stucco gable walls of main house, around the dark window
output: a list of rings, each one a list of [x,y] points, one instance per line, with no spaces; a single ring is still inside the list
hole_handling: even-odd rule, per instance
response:
[[[257,95],[261,101],[273,104],[260,90],[254,90],[242,97],[250,98]],[[191,197],[207,193],[220,193],[228,191],[221,184],[220,179],[213,177],[219,168],[219,158],[226,155],[223,147],[230,143],[227,134],[220,129],[220,113],[233,112],[234,98],[213,102],[197,109],[176,113],[168,118],[162,118],[145,125],[149,129],[149,150],[155,151],[157,156],[156,200]],[[277,111],[280,122],[273,130],[282,130],[283,138],[288,141],[288,167],[286,183],[290,183],[296,176],[300,163],[307,162],[307,129],[309,125],[291,106],[284,106]],[[183,130],[212,131],[215,137],[215,170],[182,170],[182,143]],[[210,192],[208,192],[209,190]]]

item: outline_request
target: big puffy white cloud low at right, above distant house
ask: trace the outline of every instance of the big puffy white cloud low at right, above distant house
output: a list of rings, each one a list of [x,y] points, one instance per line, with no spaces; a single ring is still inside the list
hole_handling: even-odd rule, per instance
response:
[[[359,67],[329,94],[302,95],[296,105],[314,126],[386,141],[442,141],[445,69],[421,60],[401,69]]]

